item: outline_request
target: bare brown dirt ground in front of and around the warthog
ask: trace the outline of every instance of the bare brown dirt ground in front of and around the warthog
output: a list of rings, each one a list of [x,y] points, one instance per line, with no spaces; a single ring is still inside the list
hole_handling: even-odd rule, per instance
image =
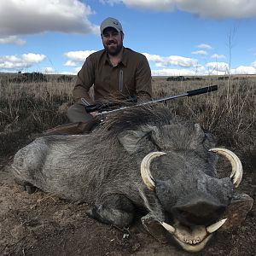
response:
[[[89,206],[53,195],[23,191],[9,172],[12,157],[0,163],[0,255],[191,255],[150,236],[138,218],[127,230],[98,223]],[[255,160],[239,188],[255,199]],[[253,168],[253,170],[251,169]],[[238,228],[218,231],[194,255],[255,255],[256,207]]]

